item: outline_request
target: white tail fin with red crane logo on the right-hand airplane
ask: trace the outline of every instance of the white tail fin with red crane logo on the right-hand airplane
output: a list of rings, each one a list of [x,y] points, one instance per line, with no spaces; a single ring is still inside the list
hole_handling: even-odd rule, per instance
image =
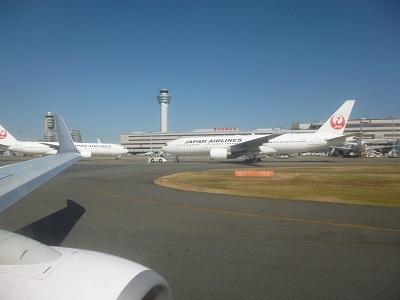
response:
[[[355,100],[347,100],[343,105],[318,129],[317,133],[342,135]]]

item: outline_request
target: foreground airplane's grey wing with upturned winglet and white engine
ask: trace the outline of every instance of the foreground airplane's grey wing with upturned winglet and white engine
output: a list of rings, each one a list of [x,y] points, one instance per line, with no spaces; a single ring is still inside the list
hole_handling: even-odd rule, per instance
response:
[[[38,188],[82,155],[60,116],[59,152],[0,168],[0,212]],[[159,274],[104,253],[49,247],[0,230],[0,298],[13,300],[172,299]]]

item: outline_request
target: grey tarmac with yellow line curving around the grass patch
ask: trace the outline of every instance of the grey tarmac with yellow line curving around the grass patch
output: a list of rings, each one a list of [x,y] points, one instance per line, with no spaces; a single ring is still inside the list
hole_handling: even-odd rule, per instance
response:
[[[21,159],[0,157],[0,165]],[[253,167],[341,164],[398,166],[400,159],[267,158]],[[161,274],[178,300],[399,299],[399,208],[194,193],[153,183],[177,172],[243,166],[249,167],[200,157],[81,160],[3,212],[0,228],[141,263]]]

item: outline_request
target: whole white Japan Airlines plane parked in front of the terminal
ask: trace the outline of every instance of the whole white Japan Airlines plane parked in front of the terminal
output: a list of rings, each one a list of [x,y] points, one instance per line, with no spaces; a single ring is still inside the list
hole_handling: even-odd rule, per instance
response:
[[[214,160],[247,155],[245,162],[258,162],[259,154],[290,154],[341,145],[346,139],[343,130],[354,102],[346,101],[315,133],[186,137],[168,142],[161,150],[177,157],[207,154]]]

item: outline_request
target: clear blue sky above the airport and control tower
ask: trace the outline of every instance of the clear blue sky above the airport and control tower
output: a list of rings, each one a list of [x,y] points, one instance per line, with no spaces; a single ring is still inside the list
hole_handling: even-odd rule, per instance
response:
[[[61,114],[86,142],[159,131],[400,118],[400,2],[0,1],[0,124],[43,138]]]

